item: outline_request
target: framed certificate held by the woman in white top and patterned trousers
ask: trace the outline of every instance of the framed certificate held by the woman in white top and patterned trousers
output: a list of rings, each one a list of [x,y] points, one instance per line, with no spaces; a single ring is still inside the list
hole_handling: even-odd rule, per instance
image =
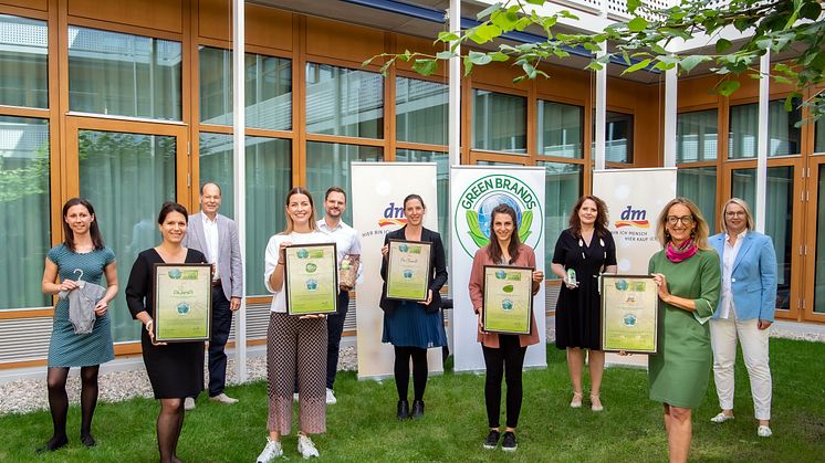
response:
[[[286,313],[334,313],[338,298],[335,243],[295,244],[285,248],[284,287]]]

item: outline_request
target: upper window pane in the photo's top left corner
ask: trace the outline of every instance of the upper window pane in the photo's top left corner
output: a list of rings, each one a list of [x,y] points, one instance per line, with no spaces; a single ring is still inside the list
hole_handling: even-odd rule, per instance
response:
[[[0,14],[0,105],[49,107],[46,23]]]

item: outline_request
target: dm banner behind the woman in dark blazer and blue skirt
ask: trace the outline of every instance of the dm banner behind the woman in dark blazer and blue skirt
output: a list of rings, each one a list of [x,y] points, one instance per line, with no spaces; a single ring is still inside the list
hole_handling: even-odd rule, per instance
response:
[[[364,269],[355,297],[358,379],[393,376],[393,346],[382,343],[384,311],[378,306],[383,283],[380,249],[384,235],[407,222],[404,198],[410,193],[420,196],[427,207],[424,227],[438,231],[435,162],[352,164],[353,227],[361,232]],[[442,371],[441,349],[429,349],[427,358],[430,371]]]

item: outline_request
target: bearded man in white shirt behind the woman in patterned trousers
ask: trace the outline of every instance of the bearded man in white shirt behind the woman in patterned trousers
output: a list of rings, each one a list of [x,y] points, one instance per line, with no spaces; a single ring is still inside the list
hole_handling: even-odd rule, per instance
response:
[[[330,187],[324,197],[324,218],[318,220],[318,229],[330,233],[335,239],[337,249],[337,263],[349,256],[351,260],[361,257],[361,241],[358,231],[344,223],[341,219],[346,210],[346,193],[338,187]],[[361,274],[361,267],[358,267]],[[341,335],[344,332],[344,320],[349,306],[349,291],[352,287],[341,285],[338,293],[337,312],[326,317],[327,350],[326,350],[326,403],[335,403],[333,385],[335,373],[338,369],[338,351],[341,348]]]

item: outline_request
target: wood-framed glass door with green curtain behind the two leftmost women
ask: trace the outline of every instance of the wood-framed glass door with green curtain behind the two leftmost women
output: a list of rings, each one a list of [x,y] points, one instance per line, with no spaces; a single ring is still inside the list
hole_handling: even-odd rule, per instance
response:
[[[123,292],[135,257],[157,245],[157,214],[165,201],[191,206],[184,125],[67,118],[67,197],[87,198],[106,246],[117,259],[121,288],[109,309],[115,341],[139,339]]]

